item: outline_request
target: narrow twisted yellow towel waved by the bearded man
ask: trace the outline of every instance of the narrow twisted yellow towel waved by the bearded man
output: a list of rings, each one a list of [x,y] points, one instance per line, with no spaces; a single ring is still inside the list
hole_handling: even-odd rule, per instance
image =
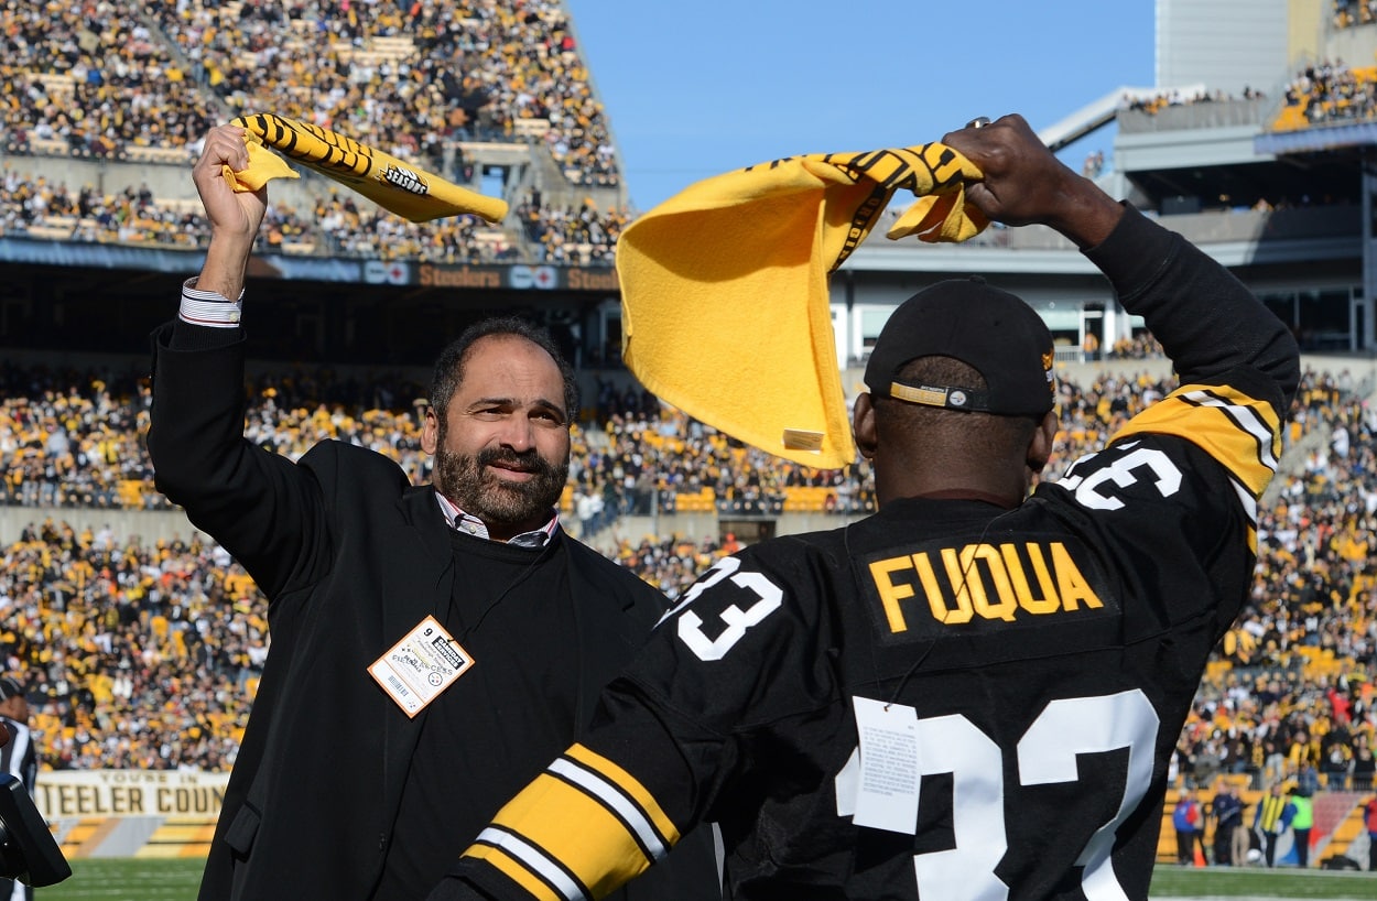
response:
[[[230,123],[248,130],[249,165],[242,172],[224,167],[230,187],[251,191],[274,178],[297,178],[275,150],[302,165],[347,185],[379,207],[412,222],[430,222],[471,212],[487,222],[507,216],[507,201],[485,197],[329,128],[256,113]]]

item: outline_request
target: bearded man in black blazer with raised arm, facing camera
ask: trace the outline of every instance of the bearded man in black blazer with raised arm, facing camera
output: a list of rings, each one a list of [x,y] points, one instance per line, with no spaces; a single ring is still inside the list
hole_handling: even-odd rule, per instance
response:
[[[248,165],[241,128],[212,130],[193,169],[212,240],[154,335],[149,430],[158,488],[273,624],[201,897],[420,898],[581,733],[664,598],[559,529],[578,389],[529,322],[481,322],[441,354],[432,486],[343,442],[293,463],[248,441],[240,299],[267,191],[233,191],[224,165]],[[653,897],[715,894],[708,840]]]

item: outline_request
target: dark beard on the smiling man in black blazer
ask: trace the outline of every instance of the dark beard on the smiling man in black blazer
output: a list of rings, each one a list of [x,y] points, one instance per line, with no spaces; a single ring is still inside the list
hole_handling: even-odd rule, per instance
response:
[[[500,479],[487,468],[497,463],[519,466],[533,478],[523,482]],[[567,478],[567,462],[554,464],[534,450],[516,453],[485,448],[470,456],[443,446],[435,449],[435,488],[460,510],[489,524],[522,525],[537,518],[544,524],[559,503]]]

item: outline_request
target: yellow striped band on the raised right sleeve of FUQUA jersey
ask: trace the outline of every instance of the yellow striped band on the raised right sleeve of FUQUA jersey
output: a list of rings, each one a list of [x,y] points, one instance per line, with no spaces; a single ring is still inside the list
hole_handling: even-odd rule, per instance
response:
[[[1129,420],[1114,439],[1142,433],[1198,445],[1254,497],[1271,482],[1281,456],[1281,419],[1272,405],[1228,386],[1181,386]]]

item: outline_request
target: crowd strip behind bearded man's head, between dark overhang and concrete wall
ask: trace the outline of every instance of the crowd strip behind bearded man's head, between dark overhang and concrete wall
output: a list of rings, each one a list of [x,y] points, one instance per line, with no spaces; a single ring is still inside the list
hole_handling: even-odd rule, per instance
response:
[[[127,371],[0,366],[0,504],[23,507],[167,508],[153,489],[140,442],[149,389]],[[833,485],[829,508],[869,503],[861,473],[779,464],[766,453],[662,406],[644,391],[599,380],[588,422],[576,427],[571,492],[603,500],[600,525],[650,514],[650,499],[672,512],[680,493],[709,489],[724,503],[770,500],[790,486]],[[288,455],[319,438],[370,446],[416,481],[430,479],[414,401],[424,389],[398,373],[361,383],[332,371],[260,375],[249,384],[246,434]],[[587,529],[585,529],[587,530]]]

